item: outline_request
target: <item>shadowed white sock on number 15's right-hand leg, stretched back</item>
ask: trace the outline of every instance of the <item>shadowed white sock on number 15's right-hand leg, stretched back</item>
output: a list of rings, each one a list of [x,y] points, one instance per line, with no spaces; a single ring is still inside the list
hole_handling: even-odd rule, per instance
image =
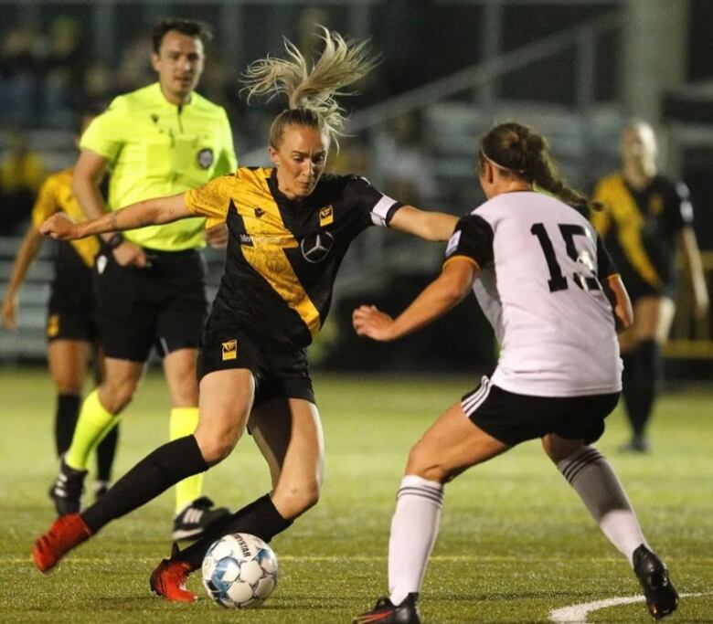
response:
[[[582,447],[557,464],[587,506],[601,531],[632,564],[633,551],[648,547],[632,503],[609,461],[592,447]]]

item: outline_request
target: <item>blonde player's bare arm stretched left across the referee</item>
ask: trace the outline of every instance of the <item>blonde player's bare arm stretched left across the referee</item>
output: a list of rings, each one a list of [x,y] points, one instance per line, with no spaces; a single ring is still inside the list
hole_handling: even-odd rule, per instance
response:
[[[49,217],[39,227],[39,231],[50,238],[73,240],[93,234],[157,226],[186,217],[194,217],[188,211],[184,196],[185,193],[179,193],[174,196],[147,199],[82,223],[74,223],[69,217],[57,213]]]

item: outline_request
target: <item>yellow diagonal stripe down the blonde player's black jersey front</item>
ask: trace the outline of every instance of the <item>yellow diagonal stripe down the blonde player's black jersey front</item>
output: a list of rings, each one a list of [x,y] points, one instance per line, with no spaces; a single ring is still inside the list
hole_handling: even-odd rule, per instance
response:
[[[282,300],[300,315],[314,338],[321,325],[319,311],[284,252],[284,249],[297,247],[297,240],[282,222],[280,210],[274,201],[266,201],[265,196],[250,191],[247,185],[241,191],[238,212],[243,217],[245,231],[253,241],[252,247],[241,246],[242,255]],[[255,208],[262,211],[260,217],[256,216]]]

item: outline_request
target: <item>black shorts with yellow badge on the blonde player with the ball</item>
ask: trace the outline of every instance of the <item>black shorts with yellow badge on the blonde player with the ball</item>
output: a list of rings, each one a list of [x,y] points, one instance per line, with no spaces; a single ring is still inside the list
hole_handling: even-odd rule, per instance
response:
[[[315,403],[304,349],[266,352],[247,333],[211,330],[198,351],[198,381],[215,371],[247,368],[255,378],[255,403],[273,398],[303,398]]]

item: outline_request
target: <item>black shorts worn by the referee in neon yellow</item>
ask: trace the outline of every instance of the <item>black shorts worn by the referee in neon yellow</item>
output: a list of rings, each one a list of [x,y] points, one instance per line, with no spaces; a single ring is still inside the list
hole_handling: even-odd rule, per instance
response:
[[[145,362],[197,349],[206,320],[205,260],[195,250],[146,249],[150,266],[126,268],[101,249],[94,264],[101,344],[107,357]]]

